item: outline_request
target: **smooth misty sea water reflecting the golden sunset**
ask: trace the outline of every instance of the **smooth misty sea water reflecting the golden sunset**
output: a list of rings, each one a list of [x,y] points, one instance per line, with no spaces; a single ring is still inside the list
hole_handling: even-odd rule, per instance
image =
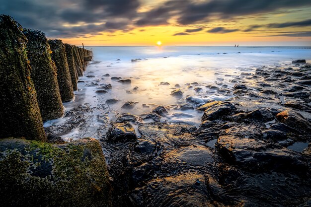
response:
[[[156,105],[171,109],[169,115],[161,121],[186,122],[198,126],[202,112],[195,110],[177,110],[180,104],[186,103],[187,96],[197,96],[206,101],[209,99],[226,100],[230,93],[210,90],[206,85],[219,87],[219,90],[231,88],[230,80],[240,77],[241,73],[251,72],[257,67],[278,66],[291,63],[295,59],[311,60],[310,49],[284,47],[86,47],[93,51],[93,62],[87,67],[84,76],[78,83],[74,101],[65,103],[66,110],[89,103],[96,107],[107,99],[116,98],[118,103],[109,105],[109,117],[114,121],[117,114],[129,112],[145,116]],[[225,53],[225,54],[224,54]],[[132,59],[142,59],[131,62]],[[110,76],[104,76],[108,73]],[[87,75],[92,75],[87,77]],[[94,77],[93,77],[94,76]],[[111,77],[131,79],[131,84],[111,80]],[[169,85],[161,85],[168,82]],[[106,94],[98,94],[94,83],[112,85]],[[179,89],[182,97],[171,96],[171,91]],[[192,86],[192,87],[189,87]],[[138,90],[133,90],[138,87]],[[195,91],[194,88],[202,88]],[[126,101],[138,102],[133,109],[122,109]],[[149,108],[143,107],[147,104]],[[45,126],[57,125],[53,120]]]

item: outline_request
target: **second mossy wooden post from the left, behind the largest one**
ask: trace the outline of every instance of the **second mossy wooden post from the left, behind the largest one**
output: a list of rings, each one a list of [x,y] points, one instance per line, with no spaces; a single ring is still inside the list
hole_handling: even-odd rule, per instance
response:
[[[56,66],[51,59],[50,46],[43,32],[24,29],[28,39],[27,56],[31,66],[37,100],[43,121],[57,119],[64,115],[61,94],[57,82]]]

